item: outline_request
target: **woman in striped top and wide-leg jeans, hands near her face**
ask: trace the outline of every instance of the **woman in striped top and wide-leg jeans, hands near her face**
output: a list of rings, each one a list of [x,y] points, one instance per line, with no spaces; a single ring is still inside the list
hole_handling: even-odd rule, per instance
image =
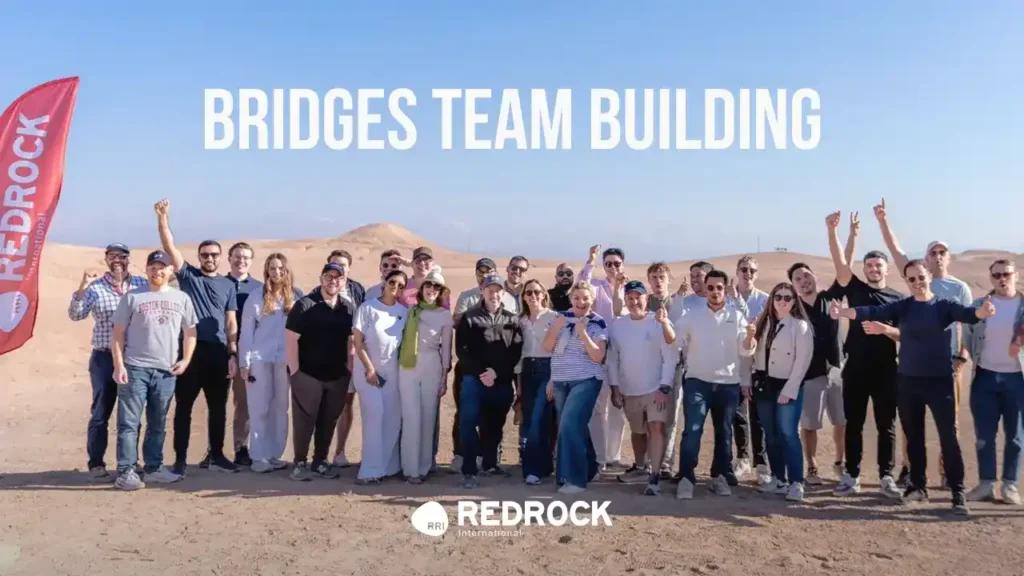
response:
[[[575,283],[569,298],[572,308],[555,320],[544,338],[544,349],[552,353],[547,396],[554,400],[559,419],[557,476],[562,494],[583,492],[598,472],[589,424],[608,345],[607,325],[593,312],[590,283]]]

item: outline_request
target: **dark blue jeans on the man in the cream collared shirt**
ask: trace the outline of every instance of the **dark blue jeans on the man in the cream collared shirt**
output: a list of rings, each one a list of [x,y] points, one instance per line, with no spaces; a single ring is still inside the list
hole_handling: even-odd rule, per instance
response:
[[[732,421],[738,407],[739,384],[713,384],[697,378],[686,378],[683,386],[686,424],[679,456],[683,478],[696,482],[693,470],[700,456],[700,438],[709,411],[715,426],[715,458],[711,464],[711,476],[717,478],[732,472]]]

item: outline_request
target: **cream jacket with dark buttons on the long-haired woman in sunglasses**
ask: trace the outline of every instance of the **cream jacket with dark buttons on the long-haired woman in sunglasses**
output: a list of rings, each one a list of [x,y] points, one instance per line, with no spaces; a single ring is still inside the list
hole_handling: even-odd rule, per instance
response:
[[[771,354],[768,355],[768,376],[785,380],[782,396],[797,398],[804,375],[811,366],[811,356],[814,354],[814,333],[806,320],[799,318],[783,319],[772,339]],[[768,334],[761,335],[761,341],[756,342],[754,353],[754,369],[765,369],[765,353],[767,352]],[[743,385],[748,385],[745,382]]]

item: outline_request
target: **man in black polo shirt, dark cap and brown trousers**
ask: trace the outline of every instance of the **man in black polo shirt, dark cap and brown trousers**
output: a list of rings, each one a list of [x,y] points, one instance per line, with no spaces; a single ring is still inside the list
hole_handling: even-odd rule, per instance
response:
[[[351,301],[341,297],[345,274],[341,264],[325,265],[319,290],[299,299],[285,325],[295,453],[291,478],[299,482],[312,480],[314,474],[338,478],[327,458],[352,377],[350,338],[356,310]],[[313,441],[311,465],[306,461],[310,440]]]

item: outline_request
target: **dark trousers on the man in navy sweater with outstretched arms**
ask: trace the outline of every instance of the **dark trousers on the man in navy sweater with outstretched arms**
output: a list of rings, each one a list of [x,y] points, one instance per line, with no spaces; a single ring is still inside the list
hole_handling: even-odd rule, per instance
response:
[[[939,431],[946,483],[951,492],[964,490],[964,455],[956,439],[956,398],[952,374],[942,377],[899,377],[899,419],[906,435],[907,454],[910,456],[910,485],[928,487],[928,451],[925,448],[925,410],[932,411],[932,419]]]

